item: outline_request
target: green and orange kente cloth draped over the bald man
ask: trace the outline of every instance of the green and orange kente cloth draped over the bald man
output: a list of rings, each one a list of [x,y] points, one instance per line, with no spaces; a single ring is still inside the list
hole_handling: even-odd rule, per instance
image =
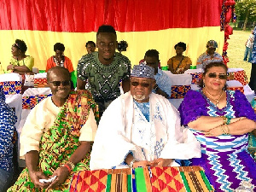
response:
[[[67,163],[79,147],[79,131],[89,117],[90,108],[98,120],[96,103],[89,91],[79,90],[77,94],[72,92],[69,95],[67,102],[56,117],[55,124],[42,136],[39,145],[38,171],[51,176],[58,167]],[[89,162],[90,153],[86,154],[86,157],[75,166],[64,183],[48,191],[68,191],[73,173],[89,170]],[[45,189],[34,187],[26,168],[20,173],[20,177],[9,191],[45,191]]]

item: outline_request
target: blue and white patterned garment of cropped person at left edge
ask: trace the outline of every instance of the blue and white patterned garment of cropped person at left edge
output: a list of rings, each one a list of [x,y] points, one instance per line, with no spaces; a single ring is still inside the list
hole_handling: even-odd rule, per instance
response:
[[[13,143],[15,112],[5,102],[5,95],[0,89],[0,169],[9,172],[13,169]]]

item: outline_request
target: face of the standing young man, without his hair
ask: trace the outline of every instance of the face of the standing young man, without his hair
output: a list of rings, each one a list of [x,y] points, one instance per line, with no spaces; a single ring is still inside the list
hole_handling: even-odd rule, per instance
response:
[[[96,47],[98,48],[99,61],[110,64],[117,47],[116,36],[112,32],[100,32],[97,35]]]

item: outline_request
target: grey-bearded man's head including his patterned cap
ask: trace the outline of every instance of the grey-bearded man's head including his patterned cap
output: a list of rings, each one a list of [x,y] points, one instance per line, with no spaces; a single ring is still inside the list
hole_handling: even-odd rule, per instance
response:
[[[154,68],[143,63],[134,66],[131,73],[131,96],[137,102],[149,102],[154,88]]]

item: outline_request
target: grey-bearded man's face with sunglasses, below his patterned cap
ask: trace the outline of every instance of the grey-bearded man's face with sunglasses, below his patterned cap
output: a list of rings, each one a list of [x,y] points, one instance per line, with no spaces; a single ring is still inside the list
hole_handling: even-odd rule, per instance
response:
[[[149,102],[149,95],[154,88],[155,80],[131,77],[131,96],[137,102]]]

